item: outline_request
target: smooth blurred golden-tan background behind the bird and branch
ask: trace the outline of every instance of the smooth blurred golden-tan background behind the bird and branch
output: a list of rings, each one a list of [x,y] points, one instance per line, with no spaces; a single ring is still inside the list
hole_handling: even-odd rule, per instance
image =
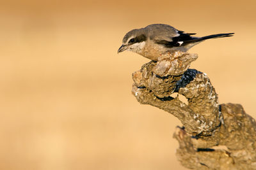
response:
[[[170,24],[193,47],[220,103],[256,118],[256,1],[1,1],[0,169],[185,169],[177,118],[139,104],[131,74],[148,62],[117,55],[127,31]]]

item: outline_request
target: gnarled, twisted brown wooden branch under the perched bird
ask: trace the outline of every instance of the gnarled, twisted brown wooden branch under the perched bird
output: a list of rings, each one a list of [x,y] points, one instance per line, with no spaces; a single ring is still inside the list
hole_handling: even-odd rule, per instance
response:
[[[173,137],[177,157],[189,169],[256,169],[256,123],[240,104],[218,104],[205,73],[188,69],[196,54],[169,52],[132,74],[132,94],[179,118]],[[178,92],[188,99],[170,97]]]

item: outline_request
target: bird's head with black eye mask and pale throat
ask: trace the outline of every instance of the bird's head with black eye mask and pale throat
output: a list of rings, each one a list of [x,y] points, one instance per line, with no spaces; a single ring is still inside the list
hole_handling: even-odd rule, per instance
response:
[[[133,29],[127,32],[123,38],[122,46],[120,46],[117,53],[124,52],[125,50],[140,53],[147,40],[145,33],[143,29]]]

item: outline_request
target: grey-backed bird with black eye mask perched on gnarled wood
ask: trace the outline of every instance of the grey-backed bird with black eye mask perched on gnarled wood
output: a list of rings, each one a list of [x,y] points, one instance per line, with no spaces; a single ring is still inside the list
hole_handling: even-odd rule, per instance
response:
[[[185,33],[170,25],[152,24],[145,28],[133,29],[125,34],[118,53],[129,50],[136,52],[150,60],[157,58],[164,52],[180,50],[187,52],[192,46],[211,38],[232,36],[234,33],[213,34],[204,37],[193,37],[195,33]]]

